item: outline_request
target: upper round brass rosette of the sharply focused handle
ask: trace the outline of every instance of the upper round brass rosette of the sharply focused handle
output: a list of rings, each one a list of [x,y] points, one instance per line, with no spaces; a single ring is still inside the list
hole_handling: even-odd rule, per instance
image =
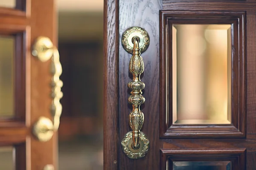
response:
[[[122,46],[128,53],[133,53],[133,37],[139,37],[140,38],[140,52],[143,53],[146,51],[149,45],[149,36],[148,32],[145,31],[145,29],[140,27],[131,27],[125,30],[125,32],[122,35]]]

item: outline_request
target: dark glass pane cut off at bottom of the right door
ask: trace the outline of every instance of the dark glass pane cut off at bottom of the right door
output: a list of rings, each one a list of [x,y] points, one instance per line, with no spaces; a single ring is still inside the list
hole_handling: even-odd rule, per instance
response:
[[[177,161],[173,170],[231,170],[231,161]]]

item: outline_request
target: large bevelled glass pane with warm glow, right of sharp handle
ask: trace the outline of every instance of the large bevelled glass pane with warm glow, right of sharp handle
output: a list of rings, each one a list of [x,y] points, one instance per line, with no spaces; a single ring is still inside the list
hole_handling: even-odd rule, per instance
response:
[[[231,25],[172,26],[173,123],[230,124]]]

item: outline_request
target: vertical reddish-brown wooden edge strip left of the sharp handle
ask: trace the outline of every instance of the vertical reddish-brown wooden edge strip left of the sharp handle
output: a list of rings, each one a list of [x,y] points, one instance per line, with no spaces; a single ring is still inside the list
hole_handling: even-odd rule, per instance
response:
[[[118,8],[118,0],[104,0],[104,170],[119,169]]]

